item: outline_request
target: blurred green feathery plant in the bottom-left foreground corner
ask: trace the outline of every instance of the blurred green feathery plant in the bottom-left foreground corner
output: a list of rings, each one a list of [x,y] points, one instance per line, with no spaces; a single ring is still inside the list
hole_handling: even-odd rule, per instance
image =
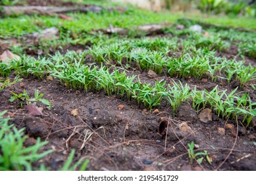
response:
[[[28,138],[24,135],[24,128],[16,129],[9,125],[10,118],[3,118],[7,111],[0,112],[0,170],[32,170],[32,163],[43,158],[53,150],[38,153],[47,144],[38,138],[35,145],[24,147]]]

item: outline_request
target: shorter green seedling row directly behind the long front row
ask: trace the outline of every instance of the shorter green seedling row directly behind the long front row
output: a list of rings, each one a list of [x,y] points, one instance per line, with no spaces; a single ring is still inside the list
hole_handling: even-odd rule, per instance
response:
[[[149,45],[150,46],[150,45]],[[155,46],[154,46],[155,47]],[[150,48],[150,47],[149,47]],[[175,51],[175,49],[172,47]],[[227,60],[214,56],[214,52],[205,49],[190,47],[192,51],[180,57],[168,57],[171,47],[165,47],[163,51],[151,51],[147,47],[134,47],[126,43],[113,43],[111,45],[95,45],[85,51],[86,55],[91,55],[95,62],[120,64],[125,68],[133,66],[136,62],[140,70],[153,70],[157,74],[167,71],[169,76],[180,78],[192,76],[201,78],[203,74],[211,74],[212,80],[224,78],[228,82],[233,79],[239,80],[241,86],[247,81],[254,80],[256,70],[252,66],[244,66],[243,62]]]

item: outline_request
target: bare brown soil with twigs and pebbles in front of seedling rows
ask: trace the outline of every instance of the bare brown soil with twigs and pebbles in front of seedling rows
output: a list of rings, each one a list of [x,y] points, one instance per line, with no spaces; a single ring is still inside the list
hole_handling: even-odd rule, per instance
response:
[[[28,2],[34,5],[40,1]],[[69,45],[62,52],[80,49],[84,48]],[[237,53],[230,49],[218,55],[234,58]],[[246,63],[255,66],[255,59],[245,59]],[[130,70],[127,74],[136,74],[141,82],[147,83],[162,79],[169,82],[180,80],[192,89],[196,86],[197,89],[211,90],[218,84],[220,89],[230,92],[237,86],[236,80],[228,84],[225,80],[211,81],[207,76],[203,80],[165,75],[149,78],[147,71],[139,70]],[[14,75],[9,78],[14,78]],[[253,83],[256,85],[255,81]],[[10,91],[22,93],[24,89],[30,96],[38,89],[44,94],[43,98],[51,102],[52,108],[38,103],[44,109],[43,115],[36,117],[29,116],[17,102],[9,102]],[[238,90],[251,92],[253,89],[245,85]],[[256,101],[255,93],[250,93],[250,97]],[[255,120],[245,129],[242,124],[210,113],[207,116],[211,116],[211,120],[204,123],[190,103],[182,104],[178,116],[174,117],[165,103],[149,112],[135,101],[109,97],[102,91],[68,89],[57,79],[47,81],[32,77],[0,91],[0,101],[0,111],[8,110],[13,118],[10,123],[18,128],[26,127],[29,138],[25,146],[33,145],[40,137],[49,141],[41,152],[54,150],[34,163],[35,166],[43,162],[51,170],[58,170],[70,150],[76,149],[74,162],[89,158],[87,170],[256,170]],[[73,116],[71,111],[76,108],[78,116]],[[192,141],[198,152],[209,152],[211,164],[205,159],[202,164],[197,164],[195,160],[190,162],[188,143]]]

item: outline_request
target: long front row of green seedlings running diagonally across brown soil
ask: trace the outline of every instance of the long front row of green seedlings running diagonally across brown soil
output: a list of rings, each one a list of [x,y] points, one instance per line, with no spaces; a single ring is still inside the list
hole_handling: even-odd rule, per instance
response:
[[[240,97],[236,95],[236,89],[227,95],[226,91],[219,91],[217,87],[212,91],[197,91],[190,89],[188,85],[175,83],[166,84],[157,81],[155,85],[141,83],[136,76],[127,77],[125,72],[95,65],[85,65],[80,59],[74,62],[71,57],[66,56],[67,61],[34,58],[22,58],[19,61],[13,60],[11,65],[16,63],[13,68],[20,75],[34,75],[43,78],[45,74],[59,78],[74,89],[105,91],[107,95],[120,95],[127,97],[128,100],[136,100],[138,104],[143,103],[150,110],[154,106],[159,106],[165,99],[172,106],[173,114],[176,114],[180,104],[188,101],[193,102],[193,108],[199,111],[201,108],[210,106],[218,116],[223,118],[235,118],[243,116],[243,122],[247,125],[255,117],[255,103],[251,102],[249,95]],[[70,58],[70,60],[68,59]],[[55,58],[56,59],[56,58]],[[197,69],[196,69],[197,70]],[[195,70],[195,72],[196,72]]]

